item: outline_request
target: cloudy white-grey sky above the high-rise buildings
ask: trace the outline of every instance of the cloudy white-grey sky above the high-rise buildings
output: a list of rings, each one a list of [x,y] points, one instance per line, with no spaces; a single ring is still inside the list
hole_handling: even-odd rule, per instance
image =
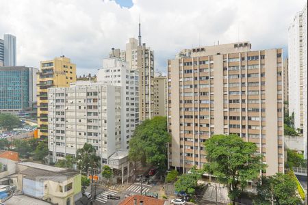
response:
[[[155,51],[155,69],[181,49],[250,40],[253,50],[282,47],[305,0],[0,0],[0,38],[17,38],[17,64],[66,55],[77,74],[96,74],[112,47],[138,38]],[[199,38],[201,36],[201,38]],[[199,40],[200,39],[200,40]]]

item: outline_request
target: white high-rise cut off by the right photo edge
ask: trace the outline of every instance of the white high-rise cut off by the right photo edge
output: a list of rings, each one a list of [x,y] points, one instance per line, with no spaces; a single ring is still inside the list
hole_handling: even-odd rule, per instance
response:
[[[307,159],[307,3],[294,16],[288,30],[289,113],[294,113],[294,126],[304,135]]]

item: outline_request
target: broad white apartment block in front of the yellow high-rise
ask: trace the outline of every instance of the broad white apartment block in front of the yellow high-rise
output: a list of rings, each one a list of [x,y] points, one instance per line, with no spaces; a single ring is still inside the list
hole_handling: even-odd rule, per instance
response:
[[[48,90],[49,140],[53,161],[91,143],[106,164],[121,149],[120,87],[78,81]]]

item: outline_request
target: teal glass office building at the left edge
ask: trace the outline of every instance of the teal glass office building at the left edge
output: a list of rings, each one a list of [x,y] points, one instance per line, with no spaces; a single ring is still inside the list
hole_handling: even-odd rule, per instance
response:
[[[21,117],[35,114],[37,68],[0,67],[0,113]]]

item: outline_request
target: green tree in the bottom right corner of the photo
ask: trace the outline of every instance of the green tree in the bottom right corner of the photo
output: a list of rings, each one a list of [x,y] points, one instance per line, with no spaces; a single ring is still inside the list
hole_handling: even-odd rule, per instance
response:
[[[302,204],[296,196],[296,182],[287,174],[263,176],[257,183],[257,199],[254,204],[296,205]]]

